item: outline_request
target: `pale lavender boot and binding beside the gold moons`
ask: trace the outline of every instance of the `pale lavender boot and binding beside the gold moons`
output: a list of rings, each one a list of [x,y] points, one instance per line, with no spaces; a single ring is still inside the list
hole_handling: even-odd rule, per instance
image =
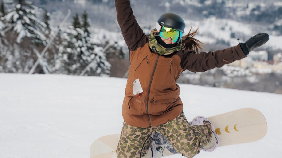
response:
[[[210,120],[208,118],[205,118],[204,116],[197,116],[190,123],[190,126],[191,127],[194,126],[194,125],[203,126],[204,125],[204,121],[210,122]],[[206,152],[212,152],[220,144],[219,137],[218,137],[217,133],[215,132],[215,129],[214,129],[213,125],[211,125],[211,127],[212,127],[213,135],[212,135],[210,141],[208,142],[208,144],[202,148],[202,150],[204,150]]]

